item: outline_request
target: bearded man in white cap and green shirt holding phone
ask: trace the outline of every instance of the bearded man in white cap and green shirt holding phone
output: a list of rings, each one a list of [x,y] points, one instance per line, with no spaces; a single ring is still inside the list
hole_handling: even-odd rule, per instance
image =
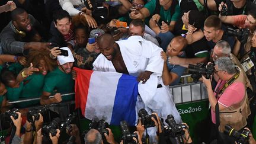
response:
[[[61,94],[68,94],[74,91],[74,81],[71,70],[75,61],[71,50],[68,47],[60,49],[68,50],[68,56],[57,56],[57,68],[49,72],[44,78],[43,95],[41,95],[40,104],[59,103],[60,101],[72,100],[73,97],[62,98]],[[55,94],[53,98],[50,95]]]

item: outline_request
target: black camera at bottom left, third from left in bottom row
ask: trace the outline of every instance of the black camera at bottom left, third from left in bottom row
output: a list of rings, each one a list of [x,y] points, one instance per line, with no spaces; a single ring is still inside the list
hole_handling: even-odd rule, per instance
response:
[[[49,136],[49,133],[51,133],[52,136],[56,136],[57,129],[59,128],[59,124],[60,124],[60,118],[56,117],[48,125],[43,126],[43,128],[41,129],[41,133],[44,136]]]

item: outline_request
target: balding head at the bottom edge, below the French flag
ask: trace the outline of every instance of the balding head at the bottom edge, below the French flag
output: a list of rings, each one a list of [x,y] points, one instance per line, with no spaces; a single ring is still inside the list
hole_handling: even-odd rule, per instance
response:
[[[94,139],[90,139],[89,136],[94,137]],[[101,144],[102,142],[102,137],[100,132],[95,129],[91,129],[87,132],[87,134],[84,137],[85,144]]]

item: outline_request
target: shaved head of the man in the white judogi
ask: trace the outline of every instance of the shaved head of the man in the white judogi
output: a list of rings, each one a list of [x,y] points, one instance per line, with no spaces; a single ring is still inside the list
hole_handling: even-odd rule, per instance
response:
[[[101,53],[108,59],[113,60],[117,52],[117,43],[114,42],[114,38],[110,34],[103,34],[98,38],[98,46],[100,47]]]

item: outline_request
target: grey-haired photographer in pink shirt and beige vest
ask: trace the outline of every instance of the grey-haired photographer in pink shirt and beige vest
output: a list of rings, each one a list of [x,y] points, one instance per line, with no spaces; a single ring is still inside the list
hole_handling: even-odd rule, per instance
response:
[[[215,91],[212,90],[211,80],[202,76],[211,105],[213,124],[210,140],[217,139],[222,143],[234,143],[230,137],[223,134],[223,131],[225,124],[237,130],[247,124],[246,119],[250,112],[246,103],[248,98],[247,91],[245,91],[244,73],[234,65],[229,57],[220,57],[215,62],[214,75],[219,77],[215,79],[217,81]],[[224,111],[225,113],[222,113]],[[218,136],[215,135],[216,131]]]

